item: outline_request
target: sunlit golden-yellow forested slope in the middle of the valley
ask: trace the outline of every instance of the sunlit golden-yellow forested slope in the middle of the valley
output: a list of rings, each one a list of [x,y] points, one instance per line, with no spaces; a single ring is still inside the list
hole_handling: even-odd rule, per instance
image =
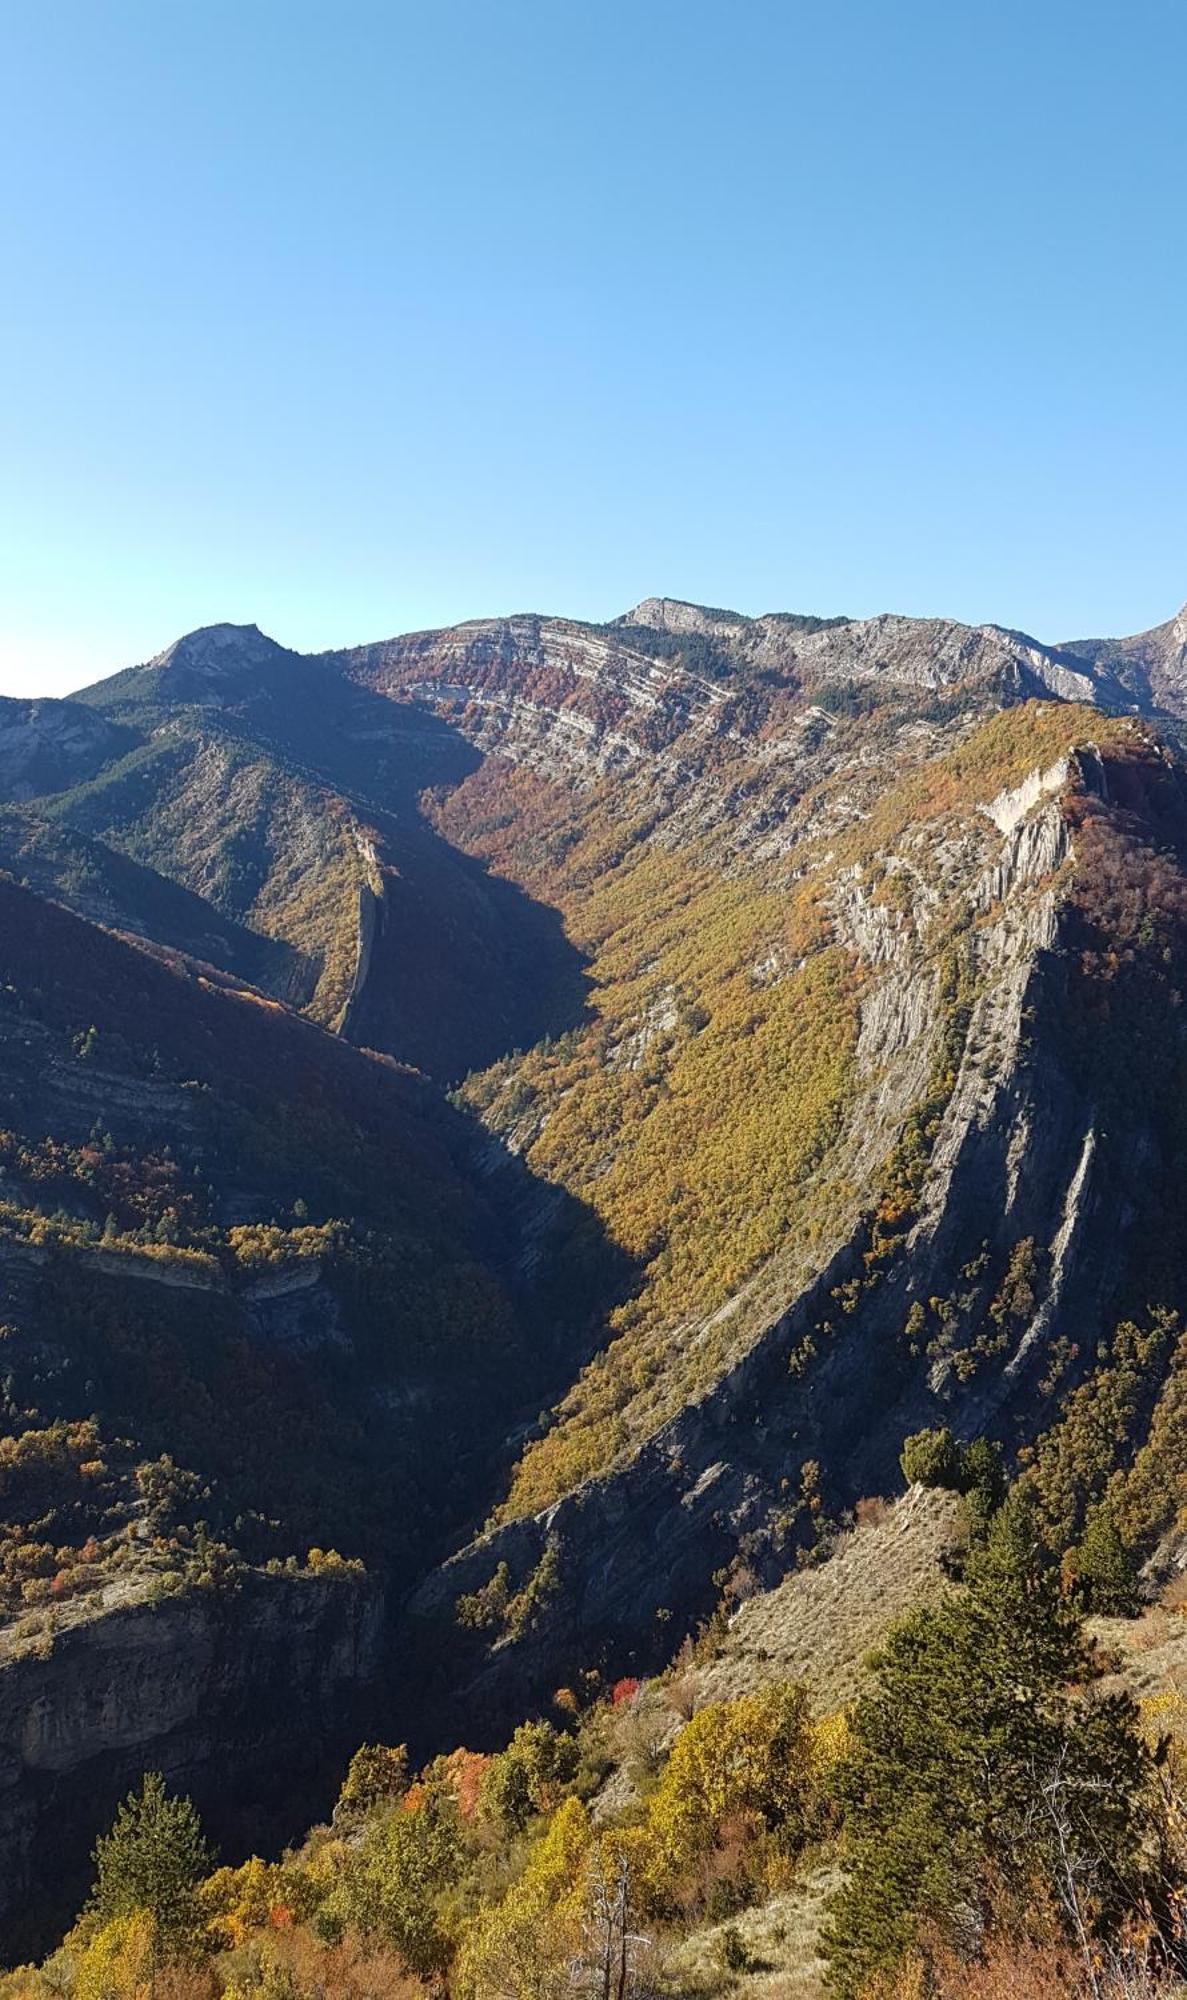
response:
[[[743,1288],[789,1242],[803,1276],[853,1228],[871,1188],[843,1142],[865,1110],[855,1056],[877,966],[853,950],[837,904],[867,902],[901,954],[897,976],[929,992],[953,940],[975,950],[995,920],[969,870],[969,848],[991,858],[983,808],[1089,726],[1103,738],[1101,720],[1075,706],[1007,710],[917,768],[903,758],[901,784],[839,836],[813,836],[807,812],[805,834],[757,868],[723,870],[711,834],[675,852],[637,838],[605,824],[597,798],[570,814],[564,856],[526,870],[590,956],[594,1018],[468,1080],[464,1100],[534,1170],[582,1194],[643,1276],[611,1320],[615,1344],[518,1472],[512,1512],[546,1506],[703,1388],[753,1326]],[[1127,724],[1113,728],[1123,744]],[[518,782],[522,838],[534,800]],[[496,786],[486,766],[444,814],[508,866],[520,852],[490,842],[482,818]],[[955,882],[953,850],[969,870]],[[923,1144],[953,1080],[939,1068],[929,1078]],[[901,1172],[893,1140],[887,1126],[887,1156],[871,1162],[881,1174]],[[901,1234],[909,1198],[887,1190],[885,1220]],[[793,1280],[781,1282],[789,1294]],[[727,1302],[735,1310],[713,1320]],[[755,1306],[769,1316],[769,1296]]]

